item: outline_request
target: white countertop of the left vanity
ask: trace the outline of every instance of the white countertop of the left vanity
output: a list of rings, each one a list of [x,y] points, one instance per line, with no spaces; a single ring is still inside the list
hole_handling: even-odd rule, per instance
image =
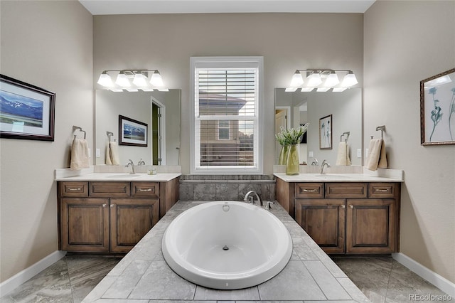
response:
[[[128,174],[128,173],[92,173],[82,174],[80,176],[57,176],[55,181],[153,181],[167,182],[176,179],[181,174]]]

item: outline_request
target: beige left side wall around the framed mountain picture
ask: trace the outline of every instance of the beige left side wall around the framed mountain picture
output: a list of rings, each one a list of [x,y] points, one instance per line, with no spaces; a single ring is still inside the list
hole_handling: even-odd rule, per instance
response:
[[[1,281],[58,250],[53,171],[73,124],[92,142],[92,16],[77,1],[0,1],[0,72],[55,92],[55,141],[0,139]],[[90,144],[91,147],[92,144]]]

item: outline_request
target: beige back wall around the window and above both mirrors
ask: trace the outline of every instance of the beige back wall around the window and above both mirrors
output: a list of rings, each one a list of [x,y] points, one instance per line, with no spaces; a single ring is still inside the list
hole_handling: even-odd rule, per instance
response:
[[[94,85],[102,70],[156,68],[182,89],[181,165],[190,173],[190,57],[264,56],[264,174],[274,163],[274,87],[296,68],[352,69],[363,80],[363,14],[94,16]],[[267,135],[269,134],[269,135]]]

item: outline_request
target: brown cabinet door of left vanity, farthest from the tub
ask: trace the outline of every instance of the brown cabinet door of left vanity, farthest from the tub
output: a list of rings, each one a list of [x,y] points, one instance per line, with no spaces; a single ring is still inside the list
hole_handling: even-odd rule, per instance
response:
[[[107,198],[62,198],[61,250],[109,251],[109,200]]]

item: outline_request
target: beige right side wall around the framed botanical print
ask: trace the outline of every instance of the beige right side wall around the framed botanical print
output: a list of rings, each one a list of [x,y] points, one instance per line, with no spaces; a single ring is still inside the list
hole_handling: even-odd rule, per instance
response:
[[[455,145],[420,145],[419,81],[455,67],[455,1],[376,1],[365,13],[364,142],[385,124],[405,171],[400,252],[455,282]]]

